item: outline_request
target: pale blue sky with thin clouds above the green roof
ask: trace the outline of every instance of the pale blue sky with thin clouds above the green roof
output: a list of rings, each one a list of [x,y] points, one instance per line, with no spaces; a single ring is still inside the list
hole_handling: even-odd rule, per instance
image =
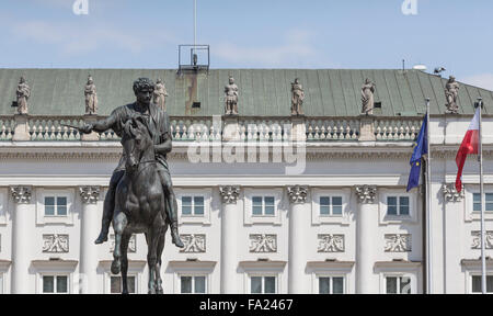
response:
[[[0,67],[176,68],[193,0],[2,0]],[[425,64],[493,90],[493,1],[197,0],[213,68],[400,68]],[[409,0],[411,1],[411,0]]]

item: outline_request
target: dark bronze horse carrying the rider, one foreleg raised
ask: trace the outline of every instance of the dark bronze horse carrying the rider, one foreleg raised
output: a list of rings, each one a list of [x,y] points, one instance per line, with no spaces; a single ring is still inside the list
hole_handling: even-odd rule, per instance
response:
[[[111,270],[114,274],[122,272],[122,294],[128,294],[128,241],[131,234],[144,233],[148,245],[149,294],[162,294],[161,256],[168,226],[165,198],[157,173],[154,145],[147,121],[142,116],[128,120],[124,126],[122,145],[126,172],[116,188],[113,215],[115,250]]]

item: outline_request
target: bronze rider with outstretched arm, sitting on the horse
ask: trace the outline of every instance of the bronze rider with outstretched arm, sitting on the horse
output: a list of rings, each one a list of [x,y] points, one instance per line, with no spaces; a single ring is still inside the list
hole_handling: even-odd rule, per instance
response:
[[[161,180],[164,195],[169,202],[165,205],[165,212],[168,215],[168,222],[171,226],[171,238],[176,247],[183,248],[184,245],[180,239],[177,233],[177,204],[176,198],[173,192],[173,184],[171,182],[171,174],[168,168],[167,154],[171,151],[172,136],[170,131],[170,119],[168,113],[162,111],[159,106],[151,102],[152,93],[154,91],[154,83],[148,78],[139,78],[134,82],[134,93],[137,97],[137,101],[131,104],[116,108],[112,114],[102,121],[87,124],[81,128],[83,133],[105,132],[113,129],[116,135],[122,137],[122,131],[125,122],[133,116],[144,116],[148,120],[149,132],[152,135],[156,150],[156,160],[158,161],[158,174]],[[122,155],[118,167],[113,171],[113,176],[110,180],[110,188],[104,199],[103,219],[101,233],[95,244],[102,244],[107,240],[107,234],[110,224],[113,218],[113,212],[115,208],[115,192],[116,187],[125,174],[125,157]]]

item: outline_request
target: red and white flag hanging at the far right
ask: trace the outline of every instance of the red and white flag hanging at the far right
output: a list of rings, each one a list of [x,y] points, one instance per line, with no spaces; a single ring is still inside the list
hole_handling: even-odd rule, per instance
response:
[[[479,144],[479,116],[481,106],[478,106],[475,110],[474,117],[472,117],[471,123],[469,124],[468,132],[462,139],[462,144],[460,144],[459,151],[456,156],[456,163],[459,171],[457,171],[456,178],[456,189],[457,192],[462,190],[462,169],[463,163],[466,162],[466,158],[469,154],[478,154],[478,144]]]

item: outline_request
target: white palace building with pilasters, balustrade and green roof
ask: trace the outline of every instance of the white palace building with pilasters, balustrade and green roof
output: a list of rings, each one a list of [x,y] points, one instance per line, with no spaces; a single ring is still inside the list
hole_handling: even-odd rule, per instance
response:
[[[81,136],[60,125],[94,119],[81,115],[89,72],[102,115],[134,101],[138,77],[167,83],[169,162],[186,248],[180,251],[167,235],[165,293],[423,293],[427,245],[433,293],[480,291],[473,157],[463,194],[451,183],[473,102],[482,97],[491,257],[491,91],[460,84],[460,114],[452,115],[444,114],[446,80],[416,70],[1,69],[0,293],[119,291],[119,276],[110,272],[112,242],[94,245],[119,142],[112,133]],[[32,88],[27,116],[10,106],[21,75]],[[221,120],[229,75],[240,89],[240,116]],[[307,116],[293,117],[289,82],[297,77]],[[358,115],[365,78],[377,86],[375,116]],[[432,99],[431,240],[422,185],[405,192],[425,98]],[[130,249],[130,287],[147,293],[144,235]],[[493,260],[488,264],[493,292]]]

